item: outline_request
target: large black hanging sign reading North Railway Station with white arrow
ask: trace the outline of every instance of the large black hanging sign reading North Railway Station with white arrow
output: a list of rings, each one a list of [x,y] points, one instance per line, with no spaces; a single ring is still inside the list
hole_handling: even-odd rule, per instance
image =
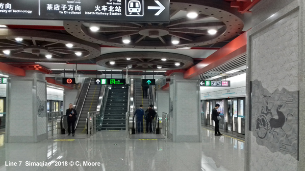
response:
[[[170,0],[0,0],[1,19],[169,22]]]

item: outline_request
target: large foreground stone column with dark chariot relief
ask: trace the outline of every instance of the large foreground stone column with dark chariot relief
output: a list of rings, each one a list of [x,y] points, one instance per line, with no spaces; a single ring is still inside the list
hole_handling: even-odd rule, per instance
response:
[[[304,0],[260,0],[248,33],[245,171],[304,171]]]

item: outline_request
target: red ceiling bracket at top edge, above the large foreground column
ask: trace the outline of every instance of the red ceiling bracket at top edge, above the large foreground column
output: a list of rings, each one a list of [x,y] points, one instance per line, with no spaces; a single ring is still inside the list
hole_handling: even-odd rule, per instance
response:
[[[232,8],[238,8],[238,12],[244,14],[249,11],[259,0],[225,0],[230,1]]]

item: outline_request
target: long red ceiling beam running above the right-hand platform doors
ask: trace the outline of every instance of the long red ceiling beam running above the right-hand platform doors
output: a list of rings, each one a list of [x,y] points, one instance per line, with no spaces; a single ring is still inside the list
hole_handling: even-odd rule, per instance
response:
[[[247,32],[238,36],[236,39],[226,44],[221,49],[214,52],[209,57],[205,58],[200,63],[191,67],[184,73],[184,78],[189,79],[209,70],[227,63],[229,60],[237,57],[247,51]]]

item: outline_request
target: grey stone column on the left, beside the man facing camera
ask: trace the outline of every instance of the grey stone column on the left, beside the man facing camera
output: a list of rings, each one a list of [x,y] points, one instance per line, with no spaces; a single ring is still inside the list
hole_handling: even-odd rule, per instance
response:
[[[6,102],[6,143],[48,139],[45,74],[28,70],[25,77],[10,77]]]

